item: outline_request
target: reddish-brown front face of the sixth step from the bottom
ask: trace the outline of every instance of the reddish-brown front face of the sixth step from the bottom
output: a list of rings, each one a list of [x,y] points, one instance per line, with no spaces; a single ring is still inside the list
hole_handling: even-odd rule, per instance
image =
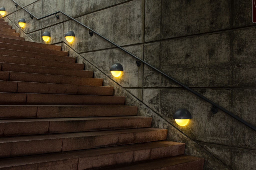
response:
[[[0,104],[41,105],[124,105],[124,96],[0,93]]]

